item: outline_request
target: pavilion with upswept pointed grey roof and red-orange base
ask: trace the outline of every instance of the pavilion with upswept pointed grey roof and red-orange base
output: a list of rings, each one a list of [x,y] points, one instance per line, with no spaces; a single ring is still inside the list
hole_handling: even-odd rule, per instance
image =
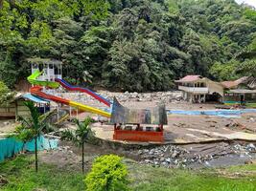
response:
[[[151,110],[128,109],[114,97],[110,122],[114,124],[113,139],[163,142],[167,114],[164,105]]]

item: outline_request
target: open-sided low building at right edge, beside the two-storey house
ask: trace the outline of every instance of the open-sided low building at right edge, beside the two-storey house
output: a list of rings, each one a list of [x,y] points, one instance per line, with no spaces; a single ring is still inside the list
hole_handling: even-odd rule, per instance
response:
[[[244,76],[235,81],[223,81],[223,103],[225,105],[247,105],[256,107],[256,78]]]

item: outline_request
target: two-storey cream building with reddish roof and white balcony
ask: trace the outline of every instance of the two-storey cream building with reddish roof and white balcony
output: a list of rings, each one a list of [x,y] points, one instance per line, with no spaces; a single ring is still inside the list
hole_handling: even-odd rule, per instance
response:
[[[222,102],[223,85],[200,75],[187,75],[179,80],[178,90],[183,92],[185,100],[201,103],[206,101]]]

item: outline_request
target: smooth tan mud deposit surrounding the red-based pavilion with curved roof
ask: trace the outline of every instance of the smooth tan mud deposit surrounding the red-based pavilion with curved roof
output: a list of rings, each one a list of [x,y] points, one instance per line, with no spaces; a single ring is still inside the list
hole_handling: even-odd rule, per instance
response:
[[[155,107],[157,101],[121,102],[128,108],[146,109]],[[184,101],[167,103],[168,110],[214,110],[216,104],[192,104]],[[96,136],[112,139],[113,126],[94,124]],[[168,115],[168,125],[164,126],[165,142],[194,143],[213,140],[244,139],[256,141],[256,113],[243,114],[239,118],[215,116]]]

